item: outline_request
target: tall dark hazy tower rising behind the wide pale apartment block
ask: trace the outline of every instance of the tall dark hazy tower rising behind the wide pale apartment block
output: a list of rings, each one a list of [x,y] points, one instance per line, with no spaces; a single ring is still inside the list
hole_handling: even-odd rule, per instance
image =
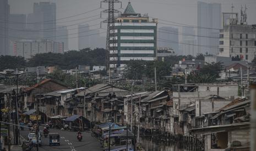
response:
[[[43,39],[55,39],[56,3],[50,3],[50,2],[34,3],[34,9],[33,9],[33,14],[31,15],[31,18],[32,18],[31,19],[32,23],[33,22],[39,23],[39,24],[34,24],[34,27],[35,26],[36,28],[40,27],[40,30],[44,31],[42,32]]]

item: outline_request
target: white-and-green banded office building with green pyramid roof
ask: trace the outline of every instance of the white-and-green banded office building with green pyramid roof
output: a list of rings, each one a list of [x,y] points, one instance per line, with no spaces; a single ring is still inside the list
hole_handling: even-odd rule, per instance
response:
[[[122,67],[129,60],[149,60],[156,57],[157,19],[135,13],[129,2],[115,23],[116,50],[110,50],[110,67]],[[110,43],[113,47],[113,42]]]

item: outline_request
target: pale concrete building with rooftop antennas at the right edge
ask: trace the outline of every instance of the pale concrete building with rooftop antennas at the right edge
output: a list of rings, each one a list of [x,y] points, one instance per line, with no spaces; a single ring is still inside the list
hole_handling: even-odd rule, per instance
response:
[[[244,14],[239,22],[238,13],[222,13],[219,56],[247,62],[256,57],[256,25],[247,25]]]

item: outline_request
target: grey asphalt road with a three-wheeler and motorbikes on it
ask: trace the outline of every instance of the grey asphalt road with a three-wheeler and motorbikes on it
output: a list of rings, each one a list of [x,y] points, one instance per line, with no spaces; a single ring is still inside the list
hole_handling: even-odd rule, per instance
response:
[[[42,128],[42,127],[40,127]],[[60,146],[49,146],[49,136],[47,138],[42,136],[42,146],[39,147],[40,151],[86,151],[86,150],[92,150],[92,151],[100,151],[103,150],[101,148],[100,142],[95,138],[91,137],[90,133],[88,132],[82,132],[83,140],[79,142],[77,140],[77,132],[71,132],[71,131],[62,131],[58,129],[50,129],[51,133],[59,133],[60,136]],[[29,130],[24,129],[23,131],[20,131],[20,135],[23,136],[25,139],[28,139]],[[36,150],[34,147],[33,150]]]

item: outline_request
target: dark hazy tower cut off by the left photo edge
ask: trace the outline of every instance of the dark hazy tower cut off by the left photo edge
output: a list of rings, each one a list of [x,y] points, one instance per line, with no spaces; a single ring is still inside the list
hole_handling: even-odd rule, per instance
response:
[[[0,0],[0,55],[9,55],[8,20],[10,9],[8,0]]]

